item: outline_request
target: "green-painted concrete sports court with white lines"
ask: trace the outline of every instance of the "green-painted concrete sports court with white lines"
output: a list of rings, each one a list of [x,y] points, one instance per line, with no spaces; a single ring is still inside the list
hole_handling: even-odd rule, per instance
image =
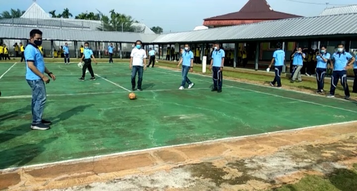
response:
[[[13,64],[0,63],[0,75]],[[94,65],[96,81],[78,81],[76,64],[47,67],[57,75],[47,85],[51,130],[30,130],[25,64],[0,79],[0,169],[356,120],[353,102],[228,80],[219,94],[210,76],[189,74],[194,88],[178,90],[180,73],[158,67],[132,101],[128,64]]]

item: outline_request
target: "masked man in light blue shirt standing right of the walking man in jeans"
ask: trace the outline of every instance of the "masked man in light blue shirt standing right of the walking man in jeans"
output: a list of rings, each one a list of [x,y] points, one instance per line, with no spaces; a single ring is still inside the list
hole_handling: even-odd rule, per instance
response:
[[[220,49],[220,44],[217,42],[214,45],[212,59],[209,70],[212,71],[213,89],[211,91],[222,92],[223,85],[223,66],[225,61],[225,52]]]

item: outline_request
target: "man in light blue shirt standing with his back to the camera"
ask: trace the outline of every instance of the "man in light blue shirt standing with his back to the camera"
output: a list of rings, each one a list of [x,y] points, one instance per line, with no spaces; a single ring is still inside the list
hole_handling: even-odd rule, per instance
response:
[[[285,52],[282,50],[281,43],[277,43],[276,48],[277,48],[277,50],[273,53],[273,59],[268,67],[270,69],[272,64],[274,64],[274,67],[275,67],[275,77],[274,77],[274,80],[272,82],[270,82],[270,85],[274,87],[275,83],[278,83],[277,87],[281,88],[282,84],[281,84],[280,75],[283,71],[283,65],[285,62]]]

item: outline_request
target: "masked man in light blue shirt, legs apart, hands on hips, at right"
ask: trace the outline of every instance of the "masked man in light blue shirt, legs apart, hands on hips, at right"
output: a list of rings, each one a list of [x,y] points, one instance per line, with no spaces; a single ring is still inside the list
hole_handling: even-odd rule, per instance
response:
[[[339,79],[341,79],[341,84],[345,90],[345,99],[348,100],[350,99],[350,90],[347,84],[347,69],[356,60],[350,53],[345,52],[344,44],[339,44],[337,50],[338,52],[334,53],[331,57],[331,65],[333,65],[334,69],[331,76],[330,94],[327,97],[335,97],[336,86]],[[351,60],[350,63],[349,60]]]

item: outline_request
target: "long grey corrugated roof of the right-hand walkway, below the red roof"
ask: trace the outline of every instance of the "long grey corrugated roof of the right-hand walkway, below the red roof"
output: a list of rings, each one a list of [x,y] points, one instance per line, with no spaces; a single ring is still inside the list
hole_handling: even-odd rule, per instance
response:
[[[357,13],[301,17],[160,35],[153,43],[186,43],[357,34]]]

